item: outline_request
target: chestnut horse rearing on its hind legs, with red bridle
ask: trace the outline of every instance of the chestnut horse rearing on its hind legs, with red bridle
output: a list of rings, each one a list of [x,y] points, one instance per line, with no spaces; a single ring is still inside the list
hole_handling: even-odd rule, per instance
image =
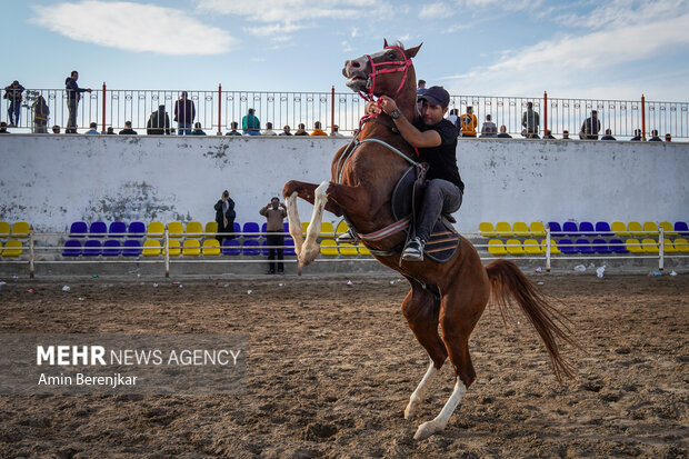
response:
[[[382,94],[391,97],[402,116],[412,121],[417,117],[417,80],[411,58],[420,47],[405,49],[401,44],[388,46],[386,41],[382,51],[348,60],[342,70],[348,79],[347,86],[368,100]],[[395,124],[387,114],[373,119],[365,117],[363,120],[357,139],[336,153],[331,181],[316,184],[291,180],[282,193],[300,272],[301,267],[309,265],[319,253],[317,238],[323,209],[327,209],[336,216],[346,214],[378,261],[400,272],[411,285],[411,291],[402,302],[402,313],[431,362],[410,397],[405,418],[410,419],[416,413],[429,381],[448,357],[456,375],[449,400],[435,419],[419,426],[415,439],[443,430],[476,379],[469,356],[469,336],[489,297],[498,303],[501,312],[509,300],[515,300],[540,335],[558,380],[561,373],[571,376],[570,367],[559,352],[559,340],[573,343],[562,326],[561,316],[513,262],[496,260],[483,267],[476,249],[465,238],[460,238],[458,250],[447,262],[428,257],[421,262],[400,260],[399,247],[406,240],[403,229],[409,223],[396,222],[391,194],[409,168],[409,160],[403,157],[413,161],[416,152],[391,129]],[[306,241],[301,235],[297,197],[313,204]]]

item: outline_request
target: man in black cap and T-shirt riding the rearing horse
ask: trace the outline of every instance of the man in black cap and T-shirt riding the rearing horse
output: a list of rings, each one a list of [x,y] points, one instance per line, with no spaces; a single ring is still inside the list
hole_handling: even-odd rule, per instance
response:
[[[420,118],[413,123],[401,116],[393,99],[381,96],[378,104],[369,103],[367,110],[388,113],[409,144],[418,148],[421,161],[428,163],[428,186],[420,214],[416,219],[416,236],[405,247],[402,260],[422,261],[423,246],[430,238],[433,224],[441,213],[453,213],[461,206],[465,183],[457,168],[457,127],[445,119],[450,94],[435,86],[419,97],[422,102]]]

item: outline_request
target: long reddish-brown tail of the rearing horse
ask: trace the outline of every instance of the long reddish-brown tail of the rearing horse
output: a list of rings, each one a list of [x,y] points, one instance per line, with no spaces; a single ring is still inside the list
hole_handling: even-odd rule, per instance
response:
[[[510,299],[521,308],[529,321],[541,337],[550,355],[550,362],[558,381],[562,375],[572,378],[575,375],[571,365],[560,355],[559,341],[579,347],[570,337],[571,331],[565,323],[568,319],[547,300],[521,270],[509,260],[496,260],[486,267],[490,279],[490,296],[500,308],[502,320],[506,320],[506,308]]]

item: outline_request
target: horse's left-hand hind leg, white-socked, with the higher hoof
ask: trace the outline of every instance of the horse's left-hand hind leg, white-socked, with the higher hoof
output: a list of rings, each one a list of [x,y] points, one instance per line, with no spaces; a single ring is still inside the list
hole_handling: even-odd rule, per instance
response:
[[[409,397],[409,403],[405,409],[405,419],[411,419],[415,416],[421,406],[421,401],[423,401],[429,382],[448,357],[445,345],[438,336],[438,311],[440,309],[438,297],[425,289],[419,282],[412,279],[409,281],[411,291],[402,302],[402,313],[417,340],[430,356],[431,361],[421,382]]]

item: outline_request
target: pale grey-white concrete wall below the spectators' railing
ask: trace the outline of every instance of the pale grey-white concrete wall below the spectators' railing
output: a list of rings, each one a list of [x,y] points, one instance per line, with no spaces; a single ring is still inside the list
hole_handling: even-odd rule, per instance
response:
[[[328,179],[346,142],[0,136],[0,220],[39,231],[76,220],[206,222],[229,189],[237,221],[261,221],[259,208],[289,179]],[[460,139],[457,153],[465,231],[480,221],[689,220],[688,143]],[[310,206],[300,211],[308,220]]]

